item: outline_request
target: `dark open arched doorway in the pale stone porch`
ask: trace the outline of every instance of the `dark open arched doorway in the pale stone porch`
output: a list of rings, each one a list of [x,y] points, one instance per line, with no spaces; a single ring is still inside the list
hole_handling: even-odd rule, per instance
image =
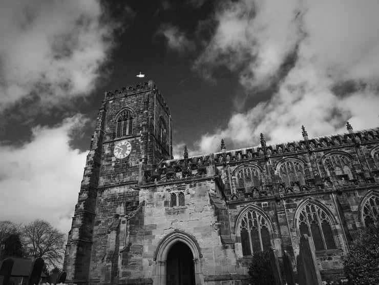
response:
[[[183,242],[175,243],[166,260],[167,285],[195,285],[194,256]]]

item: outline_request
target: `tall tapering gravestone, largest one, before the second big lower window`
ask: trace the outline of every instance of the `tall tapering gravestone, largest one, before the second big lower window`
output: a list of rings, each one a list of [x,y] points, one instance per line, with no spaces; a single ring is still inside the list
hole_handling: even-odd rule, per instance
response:
[[[297,260],[299,285],[322,285],[314,243],[310,236],[300,237],[300,252]]]

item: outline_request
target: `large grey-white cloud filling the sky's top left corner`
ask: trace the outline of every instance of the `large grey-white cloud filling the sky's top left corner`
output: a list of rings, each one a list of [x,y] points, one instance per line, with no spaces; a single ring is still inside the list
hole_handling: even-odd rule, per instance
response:
[[[88,95],[120,23],[99,1],[1,1],[0,111],[37,96],[42,106]],[[125,15],[130,16],[130,11]]]

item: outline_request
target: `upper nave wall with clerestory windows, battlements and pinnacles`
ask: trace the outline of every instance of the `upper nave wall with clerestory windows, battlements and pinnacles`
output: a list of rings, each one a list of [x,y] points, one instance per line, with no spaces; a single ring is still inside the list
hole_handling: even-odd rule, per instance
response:
[[[351,126],[350,126],[351,127]],[[379,128],[217,152],[230,200],[358,190],[379,184]],[[350,129],[351,130],[351,129]]]

